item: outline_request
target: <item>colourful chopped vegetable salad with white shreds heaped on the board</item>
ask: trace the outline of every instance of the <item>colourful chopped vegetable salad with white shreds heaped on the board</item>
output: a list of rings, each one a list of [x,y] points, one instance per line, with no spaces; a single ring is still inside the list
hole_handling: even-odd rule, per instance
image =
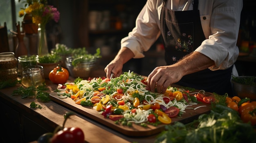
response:
[[[171,118],[181,116],[191,101],[189,91],[169,86],[164,94],[148,90],[146,77],[125,72],[119,77],[76,78],[74,82],[58,85],[59,98],[71,98],[81,106],[91,106],[105,118],[122,125],[140,123],[170,124]]]

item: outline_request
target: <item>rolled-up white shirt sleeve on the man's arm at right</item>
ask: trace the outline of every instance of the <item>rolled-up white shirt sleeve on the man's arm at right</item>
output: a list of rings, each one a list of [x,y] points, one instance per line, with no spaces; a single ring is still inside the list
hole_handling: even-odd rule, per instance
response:
[[[209,67],[211,70],[229,68],[238,57],[239,49],[236,42],[243,7],[243,1],[238,1],[226,0],[223,3],[216,0],[213,3],[211,22],[209,22],[211,35],[195,50],[215,62],[214,66]]]

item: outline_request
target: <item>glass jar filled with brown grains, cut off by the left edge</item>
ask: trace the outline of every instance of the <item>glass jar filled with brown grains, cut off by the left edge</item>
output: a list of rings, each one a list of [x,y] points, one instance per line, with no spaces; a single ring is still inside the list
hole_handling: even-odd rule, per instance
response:
[[[13,52],[0,53],[0,81],[16,80],[18,60]]]

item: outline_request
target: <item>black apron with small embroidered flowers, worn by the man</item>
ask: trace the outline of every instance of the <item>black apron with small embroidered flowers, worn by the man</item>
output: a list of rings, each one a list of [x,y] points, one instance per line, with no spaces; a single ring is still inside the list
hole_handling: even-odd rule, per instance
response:
[[[200,21],[198,0],[192,2],[193,10],[190,11],[173,11],[166,8],[166,3],[167,0],[163,0],[160,30],[164,40],[165,61],[167,65],[171,65],[193,52],[205,37]],[[233,96],[230,83],[232,67],[215,71],[206,69],[185,75],[176,84]]]

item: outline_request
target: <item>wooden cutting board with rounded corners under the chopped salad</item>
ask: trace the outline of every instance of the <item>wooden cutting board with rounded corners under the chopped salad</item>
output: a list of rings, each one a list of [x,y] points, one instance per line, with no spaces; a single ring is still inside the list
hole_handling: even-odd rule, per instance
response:
[[[56,101],[57,103],[60,103],[61,105],[74,110],[75,112],[79,112],[80,114],[83,114],[86,117],[89,117],[95,121],[98,121],[99,123],[102,123],[103,125],[106,125],[107,127],[112,128],[113,130],[116,130],[117,132],[120,132],[127,136],[150,136],[150,135],[162,132],[165,127],[165,124],[160,124],[157,126],[148,125],[148,127],[146,128],[136,124],[133,124],[132,127],[118,125],[118,124],[115,124],[114,121],[108,118],[104,118],[103,115],[99,114],[99,112],[92,109],[92,107],[84,107],[84,106],[78,105],[74,103],[74,101],[71,98],[65,98],[65,99],[59,98],[57,95],[57,92],[50,93],[50,98],[53,101]],[[205,107],[200,107],[196,110],[191,109],[191,108],[196,108],[198,106],[205,106]],[[190,123],[195,119],[198,119],[198,116],[200,114],[207,114],[210,112],[210,110],[211,110],[211,104],[200,103],[198,105],[189,106],[189,108],[185,110],[186,112],[182,114],[181,117],[171,118],[171,120],[172,120],[172,123],[174,123],[175,121],[180,121],[184,124]]]

